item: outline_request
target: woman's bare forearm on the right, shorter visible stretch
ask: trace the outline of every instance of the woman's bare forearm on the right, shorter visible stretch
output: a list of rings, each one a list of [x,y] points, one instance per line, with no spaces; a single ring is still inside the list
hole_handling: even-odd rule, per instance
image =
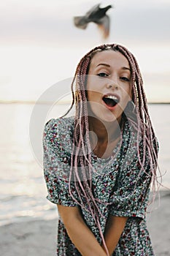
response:
[[[104,238],[107,244],[109,255],[112,255],[114,252],[120,236],[123,233],[127,219],[128,217],[116,217],[109,215],[107,226],[104,231]],[[104,248],[104,246],[102,247]]]

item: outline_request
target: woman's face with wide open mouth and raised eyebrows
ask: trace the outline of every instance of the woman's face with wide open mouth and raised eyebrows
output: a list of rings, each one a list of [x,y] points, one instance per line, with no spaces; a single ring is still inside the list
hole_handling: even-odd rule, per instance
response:
[[[131,69],[123,54],[114,50],[96,53],[87,80],[90,116],[102,121],[120,121],[131,100]]]

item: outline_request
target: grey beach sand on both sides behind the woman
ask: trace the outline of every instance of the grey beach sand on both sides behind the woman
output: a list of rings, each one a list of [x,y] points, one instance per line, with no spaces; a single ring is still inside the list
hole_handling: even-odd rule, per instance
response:
[[[158,206],[158,198],[154,208]],[[155,255],[170,255],[170,191],[161,192],[161,202],[147,216]],[[18,222],[0,227],[3,256],[54,256],[57,219]],[[63,256],[63,255],[61,255]],[[71,255],[72,256],[72,255]]]

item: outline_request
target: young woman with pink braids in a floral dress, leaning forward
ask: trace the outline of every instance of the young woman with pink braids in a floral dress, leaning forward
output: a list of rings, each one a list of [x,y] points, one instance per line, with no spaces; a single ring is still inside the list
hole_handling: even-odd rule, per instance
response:
[[[121,45],[90,50],[72,95],[75,116],[51,119],[44,132],[57,255],[154,255],[145,215],[158,146],[136,59]]]

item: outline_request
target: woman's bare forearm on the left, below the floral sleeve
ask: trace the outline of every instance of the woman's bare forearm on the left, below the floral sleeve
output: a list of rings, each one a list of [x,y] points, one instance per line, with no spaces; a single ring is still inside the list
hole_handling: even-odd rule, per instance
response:
[[[80,209],[58,205],[58,212],[72,243],[82,256],[107,256],[93,233],[85,225]]]

